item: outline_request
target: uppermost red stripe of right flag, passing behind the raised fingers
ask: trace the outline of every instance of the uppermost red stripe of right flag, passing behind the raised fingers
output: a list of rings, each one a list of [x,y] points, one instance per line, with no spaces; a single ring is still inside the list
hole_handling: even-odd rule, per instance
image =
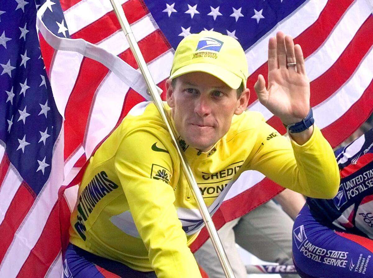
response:
[[[352,3],[352,0],[339,1],[330,0],[326,3],[324,9],[320,13],[319,18],[307,28],[298,37],[294,38],[295,44],[300,44],[303,50],[304,58],[310,56],[317,50],[326,38],[330,35],[335,25],[341,19],[347,8]],[[261,65],[253,74],[250,75],[247,81],[247,87],[252,90],[257,81],[258,75],[262,74],[264,77],[268,75],[267,62]],[[311,94],[311,99],[313,98]],[[249,105],[256,101],[257,95],[253,93],[250,95]]]

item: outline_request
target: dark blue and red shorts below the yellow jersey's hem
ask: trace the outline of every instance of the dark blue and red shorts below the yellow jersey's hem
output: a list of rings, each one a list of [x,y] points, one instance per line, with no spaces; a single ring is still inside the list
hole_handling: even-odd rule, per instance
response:
[[[69,244],[63,262],[64,278],[156,278],[156,273],[141,272],[122,263],[105,259]]]

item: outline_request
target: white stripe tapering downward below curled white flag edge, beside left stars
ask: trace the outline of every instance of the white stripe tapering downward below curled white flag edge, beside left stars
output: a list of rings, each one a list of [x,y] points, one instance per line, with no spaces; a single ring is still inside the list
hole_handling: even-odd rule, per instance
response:
[[[51,65],[50,84],[56,106],[65,118],[66,104],[78,77],[83,55],[78,52],[59,50]]]

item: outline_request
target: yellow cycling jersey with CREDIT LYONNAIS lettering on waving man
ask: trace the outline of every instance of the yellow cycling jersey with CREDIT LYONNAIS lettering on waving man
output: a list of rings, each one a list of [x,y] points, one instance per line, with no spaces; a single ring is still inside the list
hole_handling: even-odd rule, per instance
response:
[[[311,197],[338,190],[332,148],[316,126],[300,146],[245,111],[207,152],[178,140],[211,213],[245,170]],[[132,108],[90,158],[70,222],[70,242],[93,254],[157,277],[200,277],[188,246],[203,223],[153,102]]]

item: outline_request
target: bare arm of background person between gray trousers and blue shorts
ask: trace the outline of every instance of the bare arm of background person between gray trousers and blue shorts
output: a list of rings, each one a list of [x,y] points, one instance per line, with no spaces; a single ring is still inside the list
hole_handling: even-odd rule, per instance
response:
[[[274,198],[282,207],[282,209],[294,220],[299,211],[305,204],[305,198],[302,194],[285,188],[280,194]]]

